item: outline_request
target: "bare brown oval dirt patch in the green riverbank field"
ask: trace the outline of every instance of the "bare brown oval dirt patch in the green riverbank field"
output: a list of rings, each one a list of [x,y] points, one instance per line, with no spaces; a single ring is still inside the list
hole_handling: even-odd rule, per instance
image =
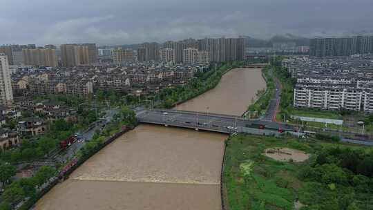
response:
[[[303,151],[282,147],[266,149],[263,155],[281,162],[288,162],[291,160],[294,162],[303,162],[309,158],[309,155]]]

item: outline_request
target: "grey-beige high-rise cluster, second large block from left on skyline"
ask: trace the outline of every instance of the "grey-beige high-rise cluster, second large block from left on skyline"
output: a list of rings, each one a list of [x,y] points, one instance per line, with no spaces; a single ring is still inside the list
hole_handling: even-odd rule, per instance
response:
[[[96,61],[96,44],[62,44],[62,66],[90,65]]]

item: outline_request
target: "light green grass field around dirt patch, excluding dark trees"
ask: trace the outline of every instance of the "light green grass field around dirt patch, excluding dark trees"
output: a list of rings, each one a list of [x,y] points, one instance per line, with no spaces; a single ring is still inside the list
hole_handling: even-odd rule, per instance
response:
[[[317,151],[336,145],[341,148],[372,150],[368,147],[310,139],[305,142],[293,137],[276,138],[244,134],[231,137],[227,142],[222,179],[227,189],[225,200],[229,209],[294,209],[294,202],[297,200],[305,204],[302,209],[327,207],[327,204],[324,204],[325,198],[339,198],[340,192],[329,190],[325,184],[301,180],[299,171],[314,164]],[[305,151],[310,158],[305,162],[279,162],[262,155],[265,149],[278,146]]]

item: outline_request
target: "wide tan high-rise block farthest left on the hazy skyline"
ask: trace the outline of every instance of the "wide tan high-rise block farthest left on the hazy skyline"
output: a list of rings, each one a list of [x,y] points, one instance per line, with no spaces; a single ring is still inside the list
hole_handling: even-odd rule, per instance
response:
[[[52,45],[46,45],[44,48],[23,48],[22,55],[23,63],[26,65],[58,66],[56,48]]]

